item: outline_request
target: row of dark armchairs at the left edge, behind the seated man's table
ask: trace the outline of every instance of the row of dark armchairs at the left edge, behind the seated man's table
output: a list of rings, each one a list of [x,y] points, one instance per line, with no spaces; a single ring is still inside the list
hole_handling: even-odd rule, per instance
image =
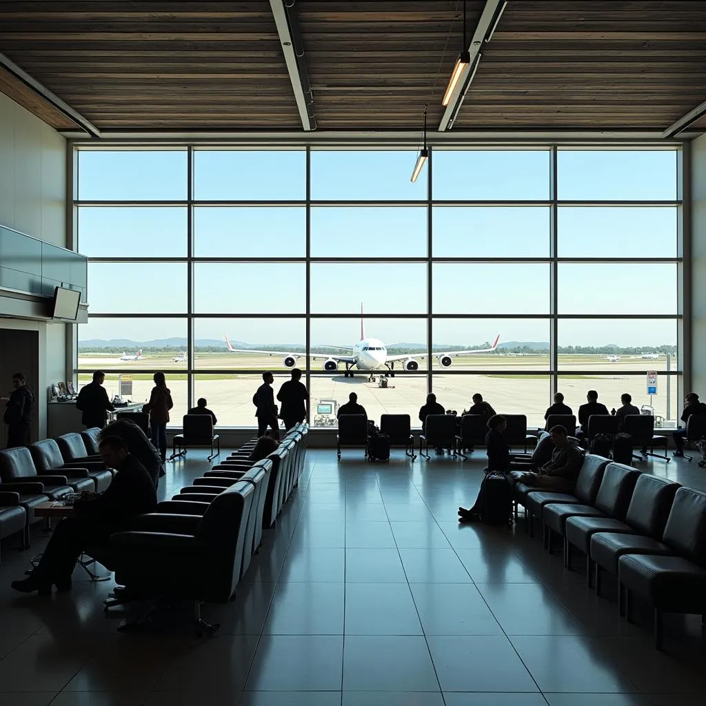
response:
[[[97,455],[99,429],[64,434],[29,446],[0,451],[0,540],[22,534],[30,546],[30,528],[42,520],[34,508],[66,493],[102,493],[112,480]],[[88,445],[88,448],[87,448]]]

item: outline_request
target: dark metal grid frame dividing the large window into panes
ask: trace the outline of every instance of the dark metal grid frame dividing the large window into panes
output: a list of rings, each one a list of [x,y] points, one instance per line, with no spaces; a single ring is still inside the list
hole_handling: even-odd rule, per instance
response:
[[[214,141],[215,142],[215,141]],[[72,245],[78,249],[78,212],[82,207],[126,207],[126,208],[140,208],[140,207],[155,207],[155,206],[174,206],[179,208],[186,208],[187,213],[187,250],[186,256],[184,257],[167,257],[167,258],[156,258],[156,257],[93,257],[89,258],[89,263],[184,263],[187,270],[187,304],[186,311],[183,313],[150,313],[150,312],[109,312],[109,313],[90,313],[89,318],[160,318],[160,319],[185,319],[187,326],[187,353],[188,362],[186,366],[186,376],[187,376],[187,401],[188,405],[193,406],[193,400],[196,394],[196,376],[199,378],[208,377],[210,375],[223,375],[227,373],[233,373],[234,370],[239,374],[257,374],[261,370],[258,369],[208,369],[201,370],[196,366],[196,361],[194,357],[194,342],[195,342],[195,325],[200,319],[206,318],[224,318],[224,319],[237,319],[237,318],[291,318],[291,319],[302,319],[304,321],[305,329],[305,346],[306,350],[311,349],[311,322],[318,319],[357,319],[359,318],[359,313],[321,313],[312,311],[311,303],[311,266],[318,263],[360,263],[360,264],[370,264],[370,263],[390,263],[390,264],[412,264],[419,263],[426,265],[426,310],[420,311],[419,313],[366,313],[366,318],[369,319],[381,319],[381,318],[408,318],[417,319],[426,322],[426,360],[424,369],[416,372],[407,371],[395,371],[397,375],[411,376],[411,377],[426,377],[426,386],[429,391],[433,389],[434,379],[437,375],[443,376],[477,376],[479,374],[503,374],[505,376],[532,376],[537,378],[549,378],[549,402],[551,402],[551,396],[556,392],[561,376],[572,374],[572,375],[594,375],[594,376],[604,376],[606,371],[604,370],[591,370],[582,369],[579,371],[571,370],[563,371],[559,364],[558,359],[558,326],[562,320],[590,320],[596,318],[602,318],[606,320],[669,320],[675,321],[678,330],[678,361],[679,366],[675,371],[667,373],[666,371],[660,371],[660,375],[669,375],[672,379],[677,381],[679,385],[679,390],[683,390],[685,385],[688,387],[688,381],[690,380],[690,368],[691,368],[691,351],[688,348],[688,341],[690,340],[690,321],[688,321],[688,316],[690,314],[690,280],[688,277],[688,267],[686,266],[685,259],[688,260],[688,253],[690,253],[690,202],[688,195],[688,164],[689,164],[689,148],[688,143],[683,141],[675,141],[669,145],[664,143],[650,143],[641,140],[637,143],[626,145],[616,145],[616,143],[610,142],[582,142],[575,145],[576,148],[592,148],[600,150],[601,148],[616,150],[625,148],[650,148],[650,149],[671,149],[677,152],[677,198],[676,200],[664,200],[664,201],[633,201],[633,200],[623,200],[623,201],[577,201],[577,200],[565,200],[561,201],[558,199],[558,150],[559,148],[566,148],[567,145],[561,143],[558,140],[554,140],[551,143],[535,143],[531,142],[515,142],[515,143],[505,143],[504,145],[498,143],[496,145],[491,145],[489,148],[506,147],[510,148],[525,148],[531,150],[548,150],[550,157],[550,169],[549,169],[549,199],[542,200],[517,200],[517,201],[507,201],[507,200],[457,200],[457,199],[434,199],[433,198],[433,153],[434,148],[431,147],[429,150],[429,160],[426,166],[426,176],[427,176],[427,189],[426,198],[424,199],[414,199],[414,200],[380,200],[380,201],[369,201],[369,200],[320,200],[311,198],[311,152],[312,148],[316,149],[326,149],[330,148],[329,145],[312,145],[308,143],[304,145],[304,159],[306,162],[305,172],[306,172],[306,188],[305,188],[305,198],[303,200],[276,200],[272,201],[259,201],[259,200],[232,200],[232,201],[209,201],[209,200],[197,200],[194,198],[194,151],[200,148],[208,148],[209,146],[213,148],[223,147],[224,145],[216,145],[212,143],[208,144],[208,141],[203,143],[197,141],[191,141],[189,143],[181,144],[187,150],[187,174],[186,178],[188,180],[187,186],[187,198],[184,200],[162,200],[162,201],[90,201],[90,200],[80,200],[78,198],[78,166],[80,160],[78,155],[80,150],[88,145],[84,145],[78,141],[68,140],[67,142],[67,215],[66,215],[66,227],[67,234],[71,234]],[[112,148],[113,145],[95,145],[95,143],[90,145],[90,148]],[[169,143],[155,142],[140,142],[139,140],[131,143],[131,148],[151,148],[151,149],[169,149]],[[173,145],[171,145],[173,146]],[[286,149],[285,143],[278,145],[280,149]],[[299,145],[301,147],[301,145]],[[340,145],[337,145],[340,147]],[[378,145],[380,148],[381,145]],[[389,146],[389,145],[387,145]],[[448,149],[450,143],[445,144],[442,149]],[[568,145],[569,147],[573,145]],[[115,145],[118,148],[118,145]],[[124,143],[120,143],[120,147],[125,148]],[[232,144],[231,148],[237,150],[243,148],[243,145]],[[476,149],[479,145],[467,144],[455,148],[463,149]],[[351,149],[360,149],[361,145],[350,145]],[[400,149],[409,149],[411,145],[400,143],[398,145]],[[454,148],[451,146],[451,148]],[[433,254],[433,209],[434,208],[445,208],[445,207],[491,207],[491,208],[520,208],[520,207],[539,207],[539,208],[549,208],[550,222],[549,222],[549,252],[546,256],[534,256],[534,257],[513,257],[513,256],[496,256],[496,257],[435,257]],[[629,208],[639,206],[641,208],[663,208],[663,207],[674,207],[677,210],[677,251],[675,257],[588,257],[588,258],[571,258],[571,257],[560,257],[558,255],[558,210],[559,208],[602,208],[602,207],[614,207],[614,208]],[[269,257],[196,257],[193,255],[194,252],[194,210],[199,207],[206,208],[304,208],[306,211],[305,219],[305,241],[304,241],[304,253],[301,257],[288,257],[288,258],[269,258]],[[425,256],[414,256],[409,257],[405,255],[395,256],[395,257],[343,257],[343,258],[331,258],[331,257],[316,257],[311,255],[311,211],[313,208],[396,208],[396,207],[417,207],[426,210],[426,255]],[[279,313],[276,311],[268,311],[266,313],[261,312],[239,312],[239,313],[218,313],[218,312],[203,312],[196,311],[194,304],[194,294],[195,294],[195,266],[199,263],[232,263],[232,264],[247,264],[247,263],[303,263],[305,265],[305,310],[301,313]],[[545,263],[550,266],[549,268],[549,308],[546,313],[434,313],[433,312],[433,265],[437,263],[472,263],[472,264],[493,264],[493,263]],[[575,313],[575,314],[561,314],[559,313],[559,301],[558,301],[558,268],[559,265],[563,263],[616,263],[616,264],[626,264],[626,263],[669,263],[674,264],[678,271],[678,292],[677,292],[677,310],[674,314],[596,314],[596,313]],[[483,369],[482,371],[469,371],[469,370],[453,370],[444,369],[443,371],[437,370],[433,367],[433,323],[434,321],[442,321],[445,319],[453,320],[468,320],[468,319],[538,319],[541,321],[549,322],[549,366],[546,369],[534,369],[534,370],[522,370],[522,371],[508,371],[506,369]],[[67,346],[67,371],[72,369],[71,372],[73,376],[78,376],[79,373],[85,374],[85,370],[78,368],[78,340],[77,336],[72,337],[73,345],[71,346],[71,357],[72,360],[68,361],[68,346]],[[136,372],[137,369],[134,366],[125,367],[120,369],[112,369],[111,373],[129,373]],[[140,373],[150,372],[149,369],[140,369]],[[184,370],[179,369],[180,374],[184,374]],[[627,377],[637,377],[644,375],[642,371],[619,371],[621,376]],[[280,374],[287,374],[286,371]],[[316,370],[311,367],[309,359],[306,359],[306,369],[304,371],[305,380],[307,387],[311,386],[311,382],[317,378],[326,376],[329,373],[325,371]],[[307,410],[309,413],[309,410]]]

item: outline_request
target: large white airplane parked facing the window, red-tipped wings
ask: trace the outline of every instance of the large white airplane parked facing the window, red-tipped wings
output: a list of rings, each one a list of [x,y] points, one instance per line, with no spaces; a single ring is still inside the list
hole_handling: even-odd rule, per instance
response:
[[[406,371],[419,370],[419,363],[416,358],[424,359],[426,358],[426,353],[402,353],[397,355],[389,355],[388,349],[385,344],[377,338],[366,338],[365,328],[363,323],[363,307],[361,306],[361,318],[360,318],[360,340],[352,347],[345,346],[330,346],[331,348],[340,348],[342,350],[350,351],[347,355],[338,354],[321,354],[321,353],[287,353],[283,351],[262,351],[255,350],[251,348],[241,349],[234,348],[231,342],[228,340],[228,336],[225,336],[225,342],[228,346],[228,350],[231,353],[260,353],[268,355],[281,355],[284,356],[282,361],[285,368],[294,368],[297,365],[297,358],[299,357],[309,357],[313,360],[323,360],[323,369],[330,373],[338,370],[340,364],[345,365],[345,372],[343,376],[347,378],[348,376],[353,377],[353,368],[359,371],[372,371],[380,370],[382,368],[387,368],[390,373],[393,373],[395,369],[395,363],[401,362],[402,369]],[[450,368],[453,363],[453,357],[459,355],[467,355],[471,353],[489,353],[494,351],[498,347],[498,341],[500,340],[500,335],[496,336],[493,341],[493,345],[489,348],[475,348],[469,350],[457,350],[457,351],[435,351],[433,352],[433,357],[436,358],[438,364],[442,368]],[[394,374],[394,373],[393,373]]]

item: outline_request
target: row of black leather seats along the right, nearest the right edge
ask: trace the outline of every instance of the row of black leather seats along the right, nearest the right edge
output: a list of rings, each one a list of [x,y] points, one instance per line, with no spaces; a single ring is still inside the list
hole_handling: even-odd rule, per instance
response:
[[[617,576],[621,615],[630,619],[633,594],[652,606],[657,649],[665,613],[706,615],[706,493],[587,455],[573,493],[520,483],[515,503],[530,534],[541,522],[547,551],[561,537],[567,568],[575,550],[585,554],[597,592],[603,572]]]

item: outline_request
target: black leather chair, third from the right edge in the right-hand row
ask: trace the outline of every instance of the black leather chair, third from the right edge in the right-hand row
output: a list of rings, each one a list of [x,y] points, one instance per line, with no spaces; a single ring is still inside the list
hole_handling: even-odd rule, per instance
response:
[[[571,568],[571,544],[566,540],[566,520],[569,517],[614,517],[625,520],[630,500],[633,498],[635,483],[640,471],[621,463],[609,463],[604,472],[594,503],[548,503],[542,508],[542,522],[546,531],[548,548],[551,553],[553,533],[563,537],[564,566]]]

